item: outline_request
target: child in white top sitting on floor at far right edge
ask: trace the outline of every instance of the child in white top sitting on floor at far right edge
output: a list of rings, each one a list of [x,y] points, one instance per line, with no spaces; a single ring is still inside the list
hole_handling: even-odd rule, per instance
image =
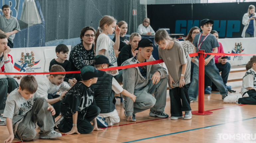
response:
[[[224,98],[224,103],[238,102],[239,104],[256,105],[256,55],[251,57],[250,63],[252,68],[245,73],[242,81],[242,98],[238,96],[227,96]]]

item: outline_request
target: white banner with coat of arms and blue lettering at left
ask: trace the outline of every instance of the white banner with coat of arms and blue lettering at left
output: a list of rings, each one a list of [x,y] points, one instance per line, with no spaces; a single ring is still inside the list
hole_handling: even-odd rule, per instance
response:
[[[69,59],[69,54],[71,51],[71,46],[67,46],[69,49],[67,60]],[[44,50],[45,49],[55,49],[56,46],[51,47],[33,47],[33,48],[13,48],[9,53],[13,58],[13,65],[16,72],[25,72],[25,73],[38,73],[44,72],[45,58]],[[57,56],[56,56],[57,57]],[[53,58],[46,59],[45,71],[49,71],[50,62]],[[43,75],[33,75],[39,80]],[[16,81],[20,83],[20,80]]]

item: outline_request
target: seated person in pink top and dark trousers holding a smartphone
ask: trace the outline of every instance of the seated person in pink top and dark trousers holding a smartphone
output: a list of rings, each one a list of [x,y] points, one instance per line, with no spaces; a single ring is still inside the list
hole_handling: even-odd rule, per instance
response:
[[[218,35],[217,31],[211,30],[211,34],[213,34],[217,40],[219,39],[219,35]],[[222,44],[220,42],[218,42],[218,43],[219,43],[218,53],[224,53]],[[230,63],[227,62],[227,56],[215,55],[214,61],[215,61],[215,65],[218,68],[219,72],[221,72],[221,78],[223,80],[224,85],[227,87],[228,90],[231,90],[231,86],[227,86],[227,78],[228,78],[229,71],[231,68]],[[212,87],[213,90],[215,90],[215,88],[214,88],[215,86],[213,86],[210,78],[206,75],[204,76],[204,86],[205,86],[205,90],[204,90],[205,94],[211,94],[210,87]]]

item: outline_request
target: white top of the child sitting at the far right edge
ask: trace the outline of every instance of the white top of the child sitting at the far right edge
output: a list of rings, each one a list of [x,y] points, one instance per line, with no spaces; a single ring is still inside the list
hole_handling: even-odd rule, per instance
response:
[[[243,81],[242,81],[242,87],[241,87],[241,94],[243,96],[244,92],[247,92],[247,88],[254,88],[256,89],[256,71],[254,71],[252,68],[249,69],[244,77],[243,77]]]

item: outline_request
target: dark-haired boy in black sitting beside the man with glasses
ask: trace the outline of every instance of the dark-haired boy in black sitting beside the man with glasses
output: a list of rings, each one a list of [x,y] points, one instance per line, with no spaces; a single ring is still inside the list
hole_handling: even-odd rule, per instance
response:
[[[68,48],[64,44],[60,44],[56,47],[55,52],[58,58],[53,59],[50,62],[49,71],[51,71],[51,67],[55,64],[61,65],[65,71],[71,71],[71,62],[66,60],[68,55]],[[74,86],[74,84],[77,82],[75,78],[72,78],[72,74],[66,74],[64,78],[64,82],[68,84],[70,87]]]

